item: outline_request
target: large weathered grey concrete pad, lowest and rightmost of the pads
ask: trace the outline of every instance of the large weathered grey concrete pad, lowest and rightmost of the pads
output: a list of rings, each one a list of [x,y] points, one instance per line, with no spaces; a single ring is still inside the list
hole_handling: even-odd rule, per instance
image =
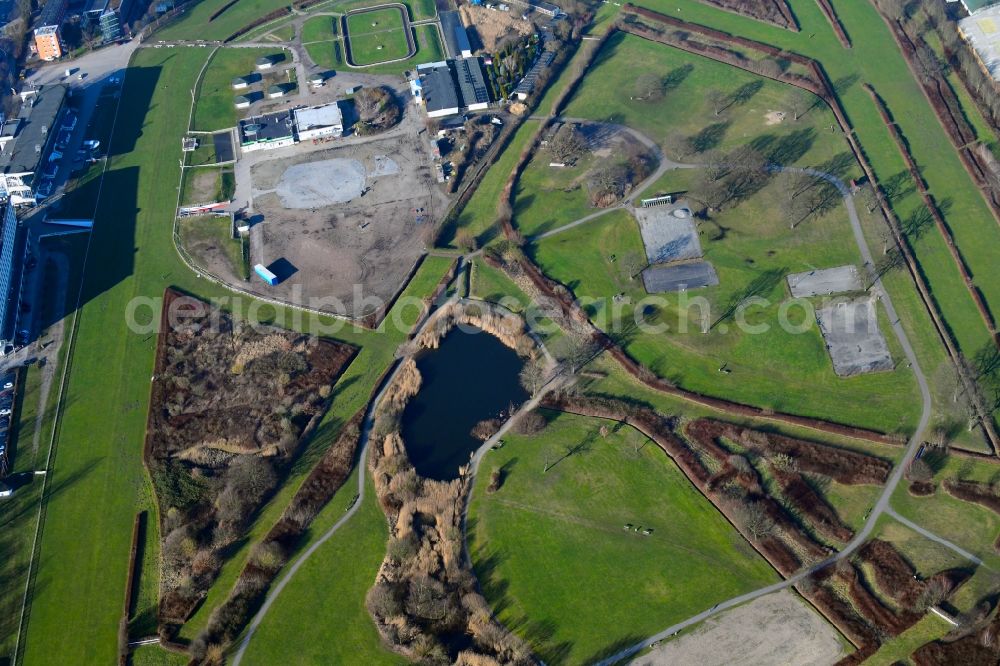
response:
[[[816,321],[840,377],[892,370],[874,299],[833,303],[816,311]]]

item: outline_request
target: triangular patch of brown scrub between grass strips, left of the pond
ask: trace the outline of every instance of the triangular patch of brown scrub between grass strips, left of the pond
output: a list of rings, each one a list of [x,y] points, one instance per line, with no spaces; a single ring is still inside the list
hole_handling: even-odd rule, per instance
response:
[[[160,622],[184,622],[326,411],[354,348],[251,327],[167,290],[144,459],[160,506]]]

